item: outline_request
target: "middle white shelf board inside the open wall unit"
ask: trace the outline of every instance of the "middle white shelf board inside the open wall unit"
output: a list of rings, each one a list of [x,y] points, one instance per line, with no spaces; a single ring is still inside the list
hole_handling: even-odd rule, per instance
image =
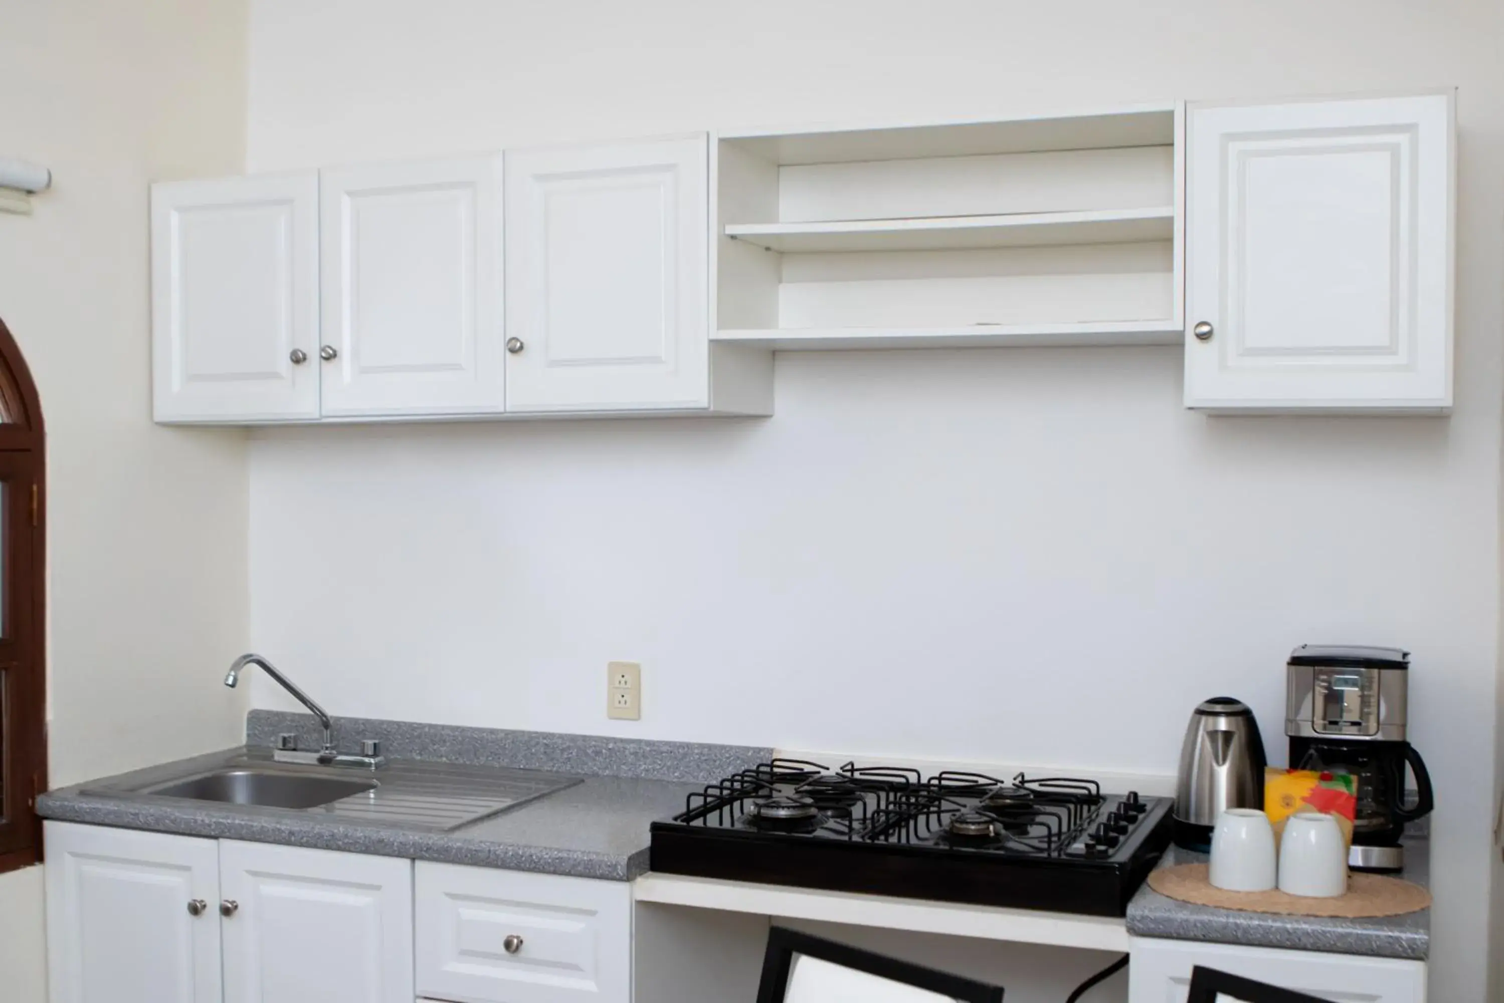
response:
[[[726,236],[770,251],[940,251],[1059,244],[1139,244],[1175,236],[1175,209],[1017,212],[987,217],[735,223]]]

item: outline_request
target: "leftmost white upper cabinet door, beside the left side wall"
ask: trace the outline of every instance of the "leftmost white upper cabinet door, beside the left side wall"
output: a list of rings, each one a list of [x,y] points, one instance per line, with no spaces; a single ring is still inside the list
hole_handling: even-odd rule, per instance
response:
[[[152,185],[158,421],[319,417],[317,251],[313,171]]]

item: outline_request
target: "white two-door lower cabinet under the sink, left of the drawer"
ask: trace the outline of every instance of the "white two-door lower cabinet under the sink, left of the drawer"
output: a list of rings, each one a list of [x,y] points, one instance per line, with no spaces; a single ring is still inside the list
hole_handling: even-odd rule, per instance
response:
[[[51,1003],[411,1003],[412,862],[47,823]]]

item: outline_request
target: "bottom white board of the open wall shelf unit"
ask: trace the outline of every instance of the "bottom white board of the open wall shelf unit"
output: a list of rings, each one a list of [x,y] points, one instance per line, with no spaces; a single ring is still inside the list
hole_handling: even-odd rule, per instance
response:
[[[978,323],[963,328],[723,328],[710,335],[711,341],[778,352],[1181,344],[1182,338],[1184,331],[1170,320]]]

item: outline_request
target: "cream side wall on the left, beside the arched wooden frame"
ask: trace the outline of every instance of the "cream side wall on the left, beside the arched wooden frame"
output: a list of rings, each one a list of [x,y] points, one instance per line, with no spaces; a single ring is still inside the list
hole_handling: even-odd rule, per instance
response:
[[[0,215],[0,317],[47,420],[53,785],[233,744],[217,672],[245,639],[244,435],[150,420],[146,186],[244,158],[245,6],[18,0],[0,153],[50,164]],[[45,994],[41,869],[0,877],[0,997]]]

